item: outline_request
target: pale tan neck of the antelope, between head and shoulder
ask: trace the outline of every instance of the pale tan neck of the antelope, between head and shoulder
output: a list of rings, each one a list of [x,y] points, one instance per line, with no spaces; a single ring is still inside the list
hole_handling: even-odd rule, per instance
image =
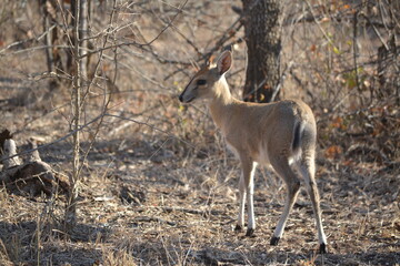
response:
[[[231,110],[236,101],[237,100],[230,93],[227,80],[222,78],[219,81],[216,90],[216,95],[211,100],[209,108],[212,120],[214,121],[217,126],[222,130],[223,133],[227,122],[229,122],[230,115],[232,115]]]

